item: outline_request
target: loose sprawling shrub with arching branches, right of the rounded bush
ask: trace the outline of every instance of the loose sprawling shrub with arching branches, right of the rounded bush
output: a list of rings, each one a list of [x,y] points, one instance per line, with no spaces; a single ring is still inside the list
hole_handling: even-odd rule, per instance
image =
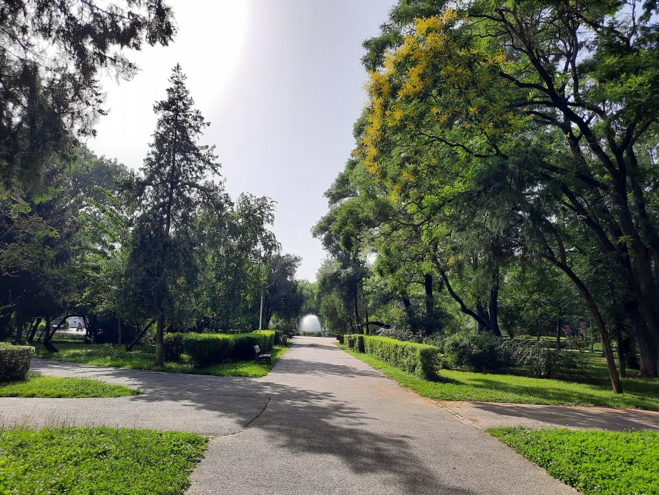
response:
[[[501,345],[501,353],[509,355],[516,366],[528,375],[550,378],[560,368],[577,368],[577,360],[569,352],[550,349],[535,340],[510,340]]]

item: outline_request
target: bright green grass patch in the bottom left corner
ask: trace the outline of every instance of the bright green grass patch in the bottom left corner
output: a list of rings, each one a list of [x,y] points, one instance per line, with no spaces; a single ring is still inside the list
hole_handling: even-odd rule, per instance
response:
[[[208,439],[127,428],[0,430],[0,494],[181,495]]]

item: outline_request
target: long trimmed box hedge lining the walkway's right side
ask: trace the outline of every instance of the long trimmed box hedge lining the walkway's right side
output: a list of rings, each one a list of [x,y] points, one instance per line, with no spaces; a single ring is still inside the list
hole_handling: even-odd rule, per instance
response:
[[[344,342],[350,338],[355,339],[355,351],[375,356],[425,380],[438,380],[441,354],[437,347],[361,334],[346,335]]]

